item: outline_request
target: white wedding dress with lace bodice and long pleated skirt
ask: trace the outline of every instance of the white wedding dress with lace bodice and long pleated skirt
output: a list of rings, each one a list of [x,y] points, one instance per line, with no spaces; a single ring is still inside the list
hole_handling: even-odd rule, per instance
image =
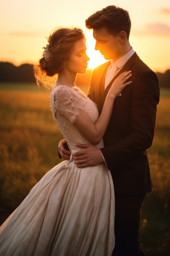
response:
[[[76,115],[83,109],[95,123],[97,107],[78,88],[59,85],[51,92],[51,109],[71,159],[47,172],[2,225],[0,255],[110,256],[115,244],[111,173],[105,164],[80,169],[72,160],[80,150],[76,144],[89,143],[73,125]]]

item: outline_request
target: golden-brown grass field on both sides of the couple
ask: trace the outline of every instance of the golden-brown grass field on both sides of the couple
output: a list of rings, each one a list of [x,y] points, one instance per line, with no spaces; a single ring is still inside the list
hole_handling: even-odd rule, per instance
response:
[[[87,92],[87,88],[82,88]],[[0,222],[40,178],[59,163],[62,135],[50,92],[29,84],[0,84]],[[148,150],[153,192],[141,211],[140,240],[147,256],[170,255],[170,90],[161,90],[155,138]]]

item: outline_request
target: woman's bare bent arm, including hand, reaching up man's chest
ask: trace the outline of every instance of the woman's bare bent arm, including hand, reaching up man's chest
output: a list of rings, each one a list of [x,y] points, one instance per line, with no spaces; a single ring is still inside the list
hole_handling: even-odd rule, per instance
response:
[[[79,115],[77,115],[74,126],[92,144],[96,145],[101,141],[110,120],[115,98],[131,83],[131,81],[126,82],[130,76],[131,73],[128,71],[120,74],[120,76],[115,79],[106,96],[102,113],[95,124],[93,124],[85,110],[80,110]]]

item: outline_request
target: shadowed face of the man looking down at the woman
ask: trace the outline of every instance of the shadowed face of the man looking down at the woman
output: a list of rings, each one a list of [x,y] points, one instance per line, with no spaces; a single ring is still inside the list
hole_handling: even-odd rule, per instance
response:
[[[96,40],[95,50],[99,50],[106,60],[113,59],[116,61],[121,57],[119,34],[113,36],[103,27],[101,29],[93,29],[93,37]]]

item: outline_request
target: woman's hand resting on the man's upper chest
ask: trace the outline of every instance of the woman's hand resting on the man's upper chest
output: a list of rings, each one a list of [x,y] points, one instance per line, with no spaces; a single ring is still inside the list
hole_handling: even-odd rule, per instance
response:
[[[115,99],[127,85],[132,83],[132,81],[126,82],[130,78],[130,76],[132,76],[131,71],[126,71],[126,72],[121,73],[115,79],[112,86],[110,87],[110,89],[108,91],[108,96]]]

